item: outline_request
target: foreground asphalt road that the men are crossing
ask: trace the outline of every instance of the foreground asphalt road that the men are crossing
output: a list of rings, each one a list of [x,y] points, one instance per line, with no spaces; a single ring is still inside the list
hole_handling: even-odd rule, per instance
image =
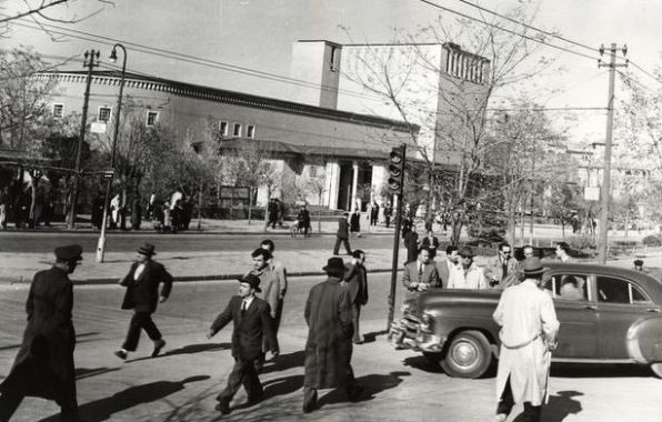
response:
[[[310,288],[321,278],[291,279],[279,338],[282,355],[261,375],[267,401],[245,406],[240,392],[232,421],[489,421],[494,409],[493,374],[480,380],[452,379],[419,353],[395,351],[380,332],[385,328],[388,274],[370,274],[370,302],[361,314],[370,340],[354,348],[358,380],[364,400],[347,402],[342,393],[322,392],[321,409],[301,413],[303,349],[307,335],[303,307]],[[0,374],[6,374],[24,326],[26,285],[0,287]],[[123,339],[131,313],[119,304],[117,285],[76,287],[79,402],[83,415],[101,421],[219,421],[213,396],[223,388],[232,365],[231,328],[212,341],[204,333],[234,294],[237,283],[177,283],[170,300],[154,315],[168,341],[164,355],[149,359],[150,342],[126,363],[112,356]],[[400,289],[399,289],[400,292]],[[401,298],[397,298],[400,303]],[[662,380],[635,365],[554,364],[545,422],[659,422]],[[509,421],[516,420],[521,408]],[[57,406],[27,399],[14,422],[51,422]],[[47,419],[44,419],[47,418]]]

